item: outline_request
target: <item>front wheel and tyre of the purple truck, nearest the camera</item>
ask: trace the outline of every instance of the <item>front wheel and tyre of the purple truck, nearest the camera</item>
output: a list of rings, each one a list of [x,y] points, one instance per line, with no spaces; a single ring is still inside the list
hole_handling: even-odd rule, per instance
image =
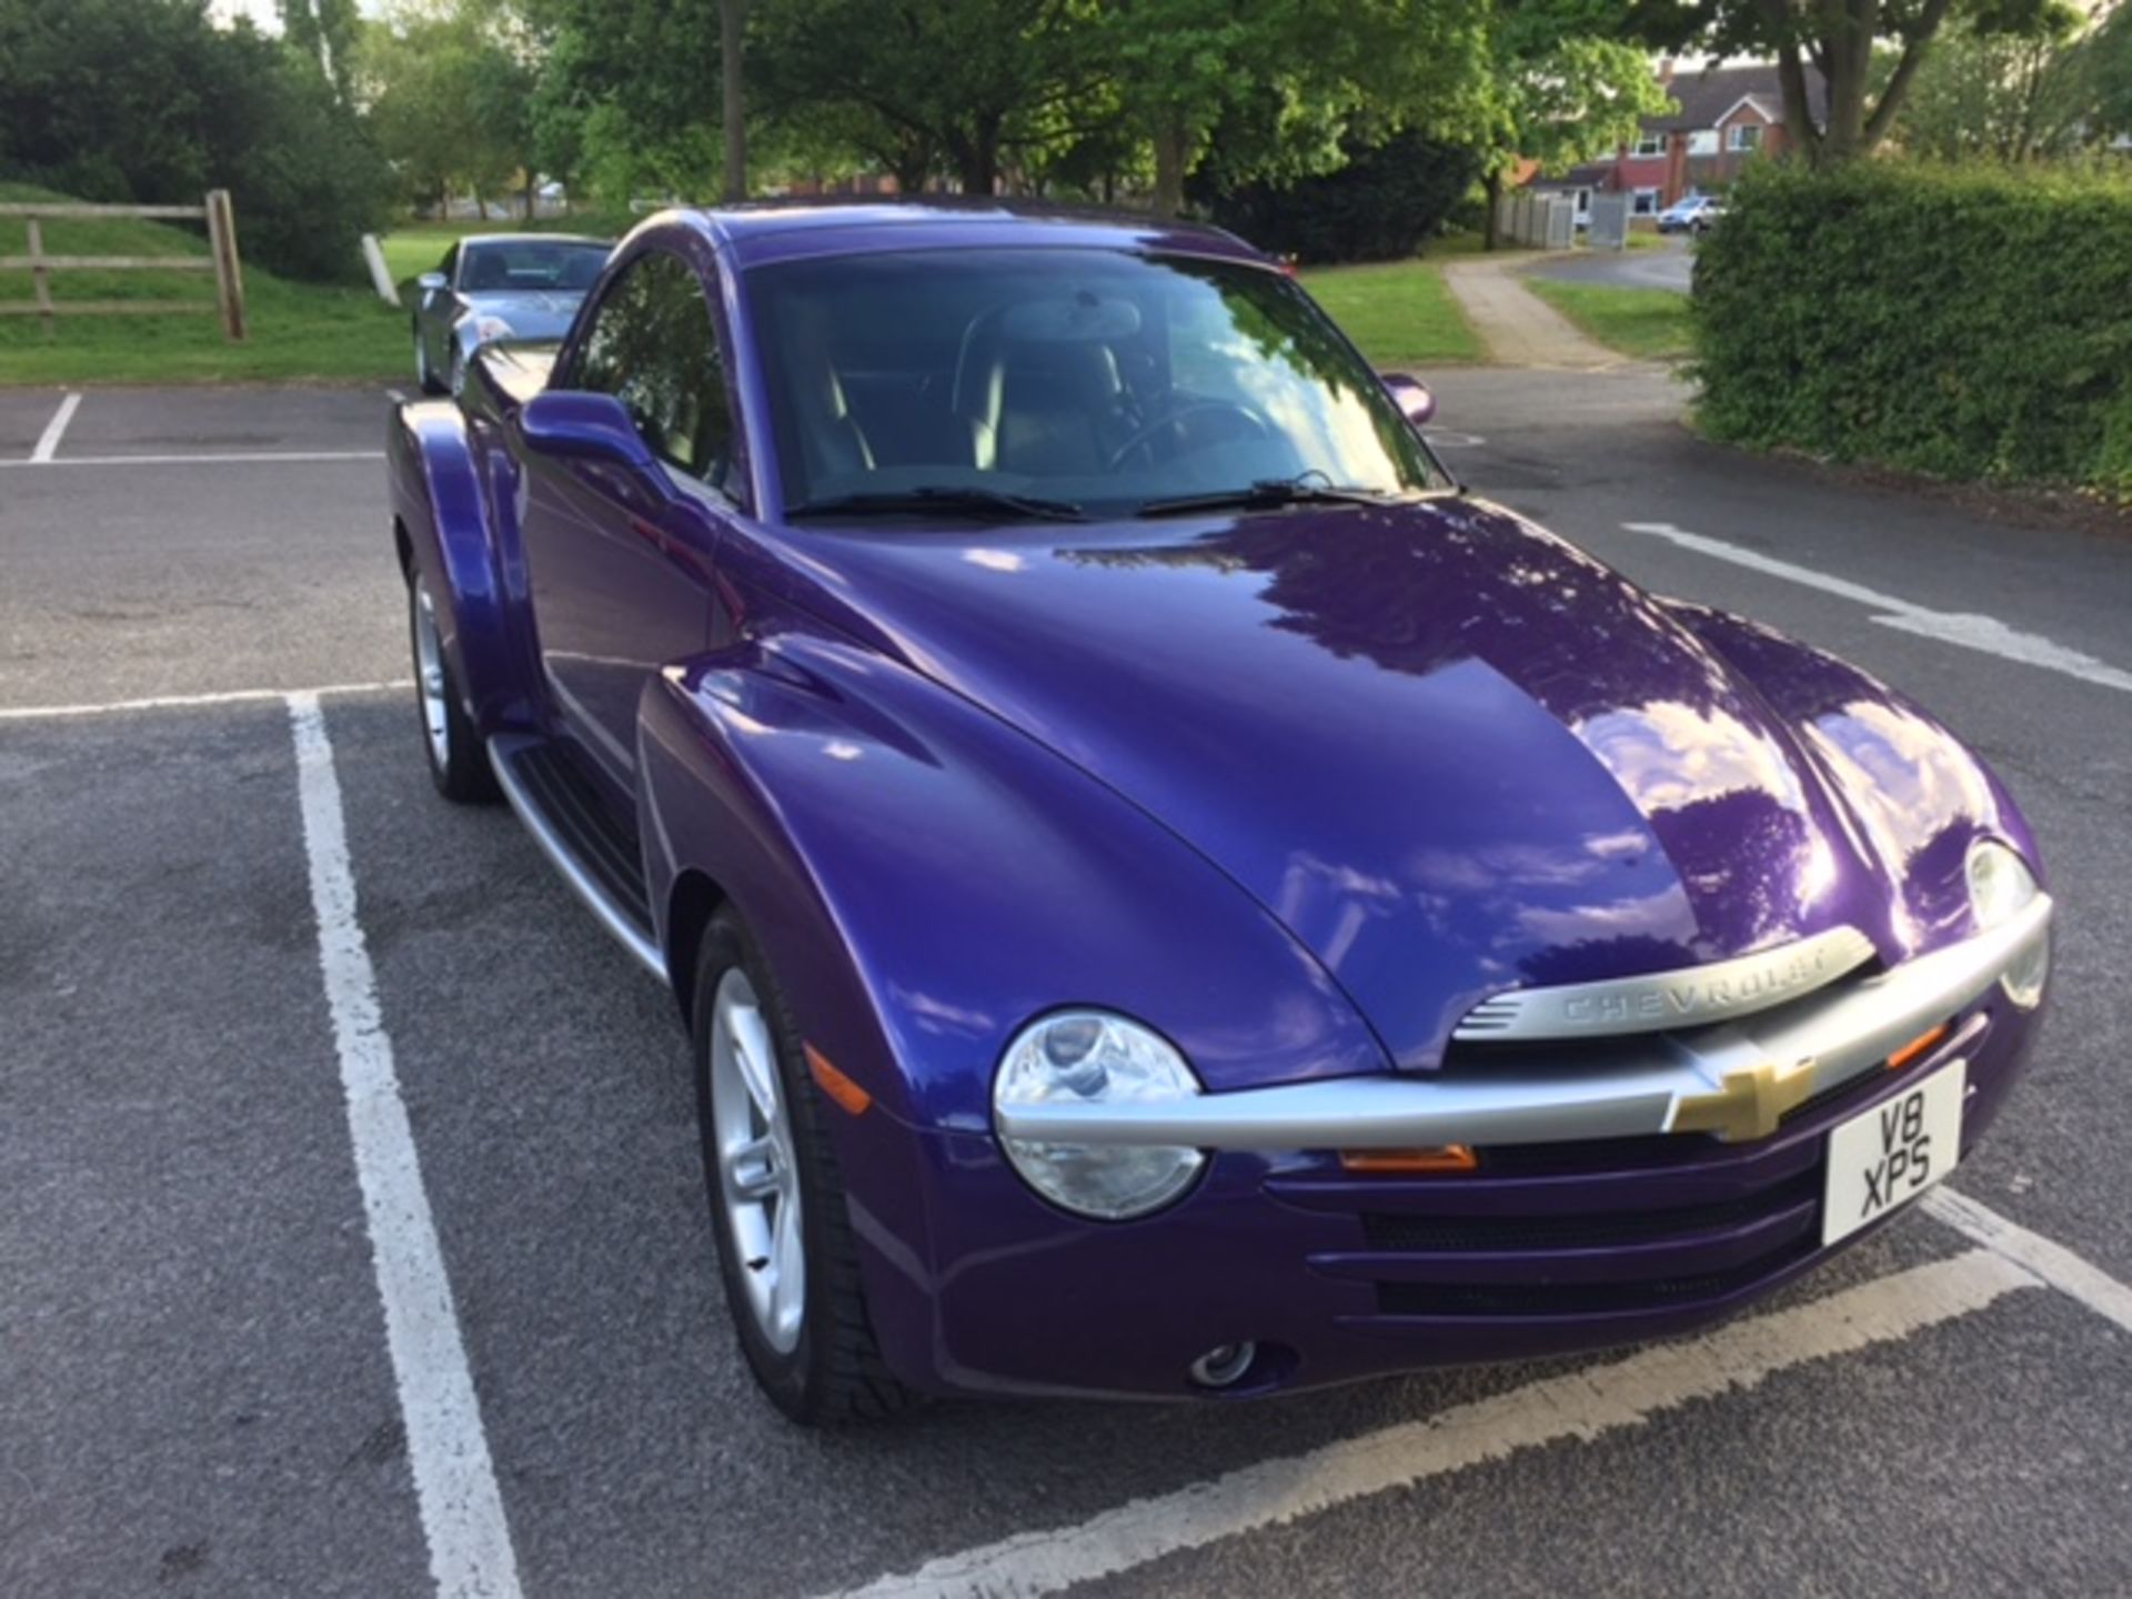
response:
[[[748,1371],[795,1422],[906,1409],[915,1396],[874,1343],[827,1109],[802,1064],[800,1028],[731,908],[704,932],[691,1015],[710,1228]]]

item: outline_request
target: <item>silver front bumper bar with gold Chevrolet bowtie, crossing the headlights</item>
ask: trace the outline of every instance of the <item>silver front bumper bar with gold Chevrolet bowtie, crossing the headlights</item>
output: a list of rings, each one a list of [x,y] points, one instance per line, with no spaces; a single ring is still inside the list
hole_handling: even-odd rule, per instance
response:
[[[1878,1070],[1949,1021],[2051,936],[2051,900],[1891,972],[1761,1017],[1648,1034],[1650,1060],[1618,1070],[1520,1060],[1456,1079],[1339,1077],[1183,1100],[1002,1104],[1004,1138],[1196,1149],[1416,1149],[1633,1138],[1654,1132],[1759,1136],[1799,1104]],[[1573,1045],[1565,1047],[1569,1053]],[[1744,1107],[1733,1115],[1733,1107]],[[1770,1128],[1761,1124],[1770,1121]],[[1742,1132],[1744,1128],[1744,1132]]]

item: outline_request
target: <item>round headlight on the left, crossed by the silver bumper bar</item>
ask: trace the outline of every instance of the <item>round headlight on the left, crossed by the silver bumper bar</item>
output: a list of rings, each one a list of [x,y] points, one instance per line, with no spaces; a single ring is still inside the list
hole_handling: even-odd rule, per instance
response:
[[[991,1104],[1181,1100],[1198,1079],[1164,1038],[1109,1011],[1057,1011],[1032,1021],[1000,1057]],[[1192,1188],[1200,1149],[1000,1138],[1021,1179],[1053,1205],[1124,1222]]]

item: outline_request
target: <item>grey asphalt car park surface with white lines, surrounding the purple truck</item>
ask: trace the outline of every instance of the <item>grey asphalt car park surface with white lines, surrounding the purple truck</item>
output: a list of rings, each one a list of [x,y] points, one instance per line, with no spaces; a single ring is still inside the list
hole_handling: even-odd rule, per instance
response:
[[[667,996],[429,787],[386,405],[0,390],[0,1590],[2132,1590],[2132,537],[1445,375],[1477,490],[2021,797],[2057,994],[1991,1141],[1689,1343],[817,1435],[725,1330]]]

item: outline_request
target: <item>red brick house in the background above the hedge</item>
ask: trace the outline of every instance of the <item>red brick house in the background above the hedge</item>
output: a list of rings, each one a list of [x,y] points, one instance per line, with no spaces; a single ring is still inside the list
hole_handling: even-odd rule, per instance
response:
[[[1678,111],[1644,117],[1635,143],[1610,160],[1537,177],[1531,188],[1573,194],[1580,217],[1593,194],[1629,194],[1633,215],[1657,215],[1684,194],[1731,183],[1755,156],[1774,156],[1791,143],[1776,66],[1676,72],[1671,62],[1661,62],[1659,83]],[[1827,85],[1812,68],[1806,70],[1806,102],[1814,122],[1827,115]]]

